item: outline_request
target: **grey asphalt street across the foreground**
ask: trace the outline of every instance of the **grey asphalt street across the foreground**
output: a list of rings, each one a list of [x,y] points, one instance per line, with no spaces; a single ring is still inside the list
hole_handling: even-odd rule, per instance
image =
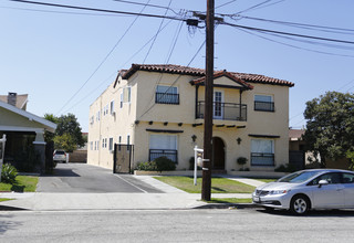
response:
[[[353,211],[293,216],[264,210],[0,212],[0,242],[352,242]]]

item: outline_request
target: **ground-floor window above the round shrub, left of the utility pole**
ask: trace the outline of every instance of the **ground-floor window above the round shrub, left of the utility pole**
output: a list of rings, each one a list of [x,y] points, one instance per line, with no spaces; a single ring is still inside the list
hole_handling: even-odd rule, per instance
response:
[[[177,162],[177,135],[157,135],[149,137],[149,161],[158,157],[167,157]]]

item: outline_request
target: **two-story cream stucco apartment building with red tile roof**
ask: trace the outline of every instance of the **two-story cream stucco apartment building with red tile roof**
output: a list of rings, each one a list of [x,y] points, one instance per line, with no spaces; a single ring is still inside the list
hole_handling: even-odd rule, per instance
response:
[[[273,171],[289,162],[288,81],[220,71],[214,76],[215,170]],[[166,156],[189,168],[202,148],[205,70],[133,64],[90,106],[87,162],[113,168],[114,144],[133,145],[132,168]]]

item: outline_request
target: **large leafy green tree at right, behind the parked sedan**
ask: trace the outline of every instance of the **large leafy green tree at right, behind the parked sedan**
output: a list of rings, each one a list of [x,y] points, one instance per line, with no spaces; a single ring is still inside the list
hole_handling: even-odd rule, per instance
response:
[[[327,92],[306,103],[306,130],[303,139],[308,150],[325,159],[351,159],[354,151],[354,95]]]

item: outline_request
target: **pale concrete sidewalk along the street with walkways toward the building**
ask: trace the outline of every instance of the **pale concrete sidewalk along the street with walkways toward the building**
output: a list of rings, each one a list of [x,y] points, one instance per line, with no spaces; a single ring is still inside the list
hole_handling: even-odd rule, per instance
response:
[[[8,210],[25,209],[32,211],[61,210],[165,210],[194,209],[212,205],[200,201],[199,193],[187,193],[153,177],[138,176],[137,179],[152,184],[165,193],[0,193],[0,198],[15,199],[0,203]],[[259,181],[243,178],[231,178],[254,186]],[[211,198],[251,198],[249,193],[214,193]]]

